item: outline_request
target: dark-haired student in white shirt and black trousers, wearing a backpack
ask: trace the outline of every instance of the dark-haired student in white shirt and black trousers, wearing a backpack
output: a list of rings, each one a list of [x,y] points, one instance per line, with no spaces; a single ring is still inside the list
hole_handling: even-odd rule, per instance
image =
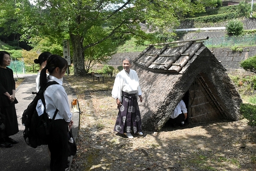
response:
[[[70,112],[67,93],[64,87],[62,87],[62,81],[60,80],[64,76],[67,67],[67,61],[64,58],[59,55],[50,55],[40,75],[40,87],[44,87],[49,81],[56,81],[58,83],[50,85],[44,91],[45,110],[49,119],[53,118],[55,110],[58,109],[54,121],[51,121],[51,129],[48,137],[48,148],[51,153],[51,171],[65,171],[65,168],[68,167],[67,132],[68,126],[71,128],[73,121],[71,120],[72,114]],[[47,70],[49,72],[48,78]]]

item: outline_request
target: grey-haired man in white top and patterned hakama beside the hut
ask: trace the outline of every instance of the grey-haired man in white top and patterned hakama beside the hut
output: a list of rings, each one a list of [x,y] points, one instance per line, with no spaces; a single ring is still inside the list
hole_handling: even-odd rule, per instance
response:
[[[134,138],[131,134],[143,135],[141,128],[140,110],[137,99],[142,102],[142,92],[139,78],[135,70],[131,70],[131,58],[122,59],[123,70],[115,78],[112,97],[116,99],[119,108],[114,131],[122,133],[129,139]]]

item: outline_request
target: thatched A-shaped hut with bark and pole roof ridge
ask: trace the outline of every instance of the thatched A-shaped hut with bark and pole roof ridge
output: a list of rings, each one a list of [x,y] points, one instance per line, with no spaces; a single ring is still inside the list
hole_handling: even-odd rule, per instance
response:
[[[163,48],[149,45],[134,58],[143,91],[139,103],[143,129],[160,130],[181,99],[189,123],[240,118],[241,97],[204,39],[208,38],[162,43]]]

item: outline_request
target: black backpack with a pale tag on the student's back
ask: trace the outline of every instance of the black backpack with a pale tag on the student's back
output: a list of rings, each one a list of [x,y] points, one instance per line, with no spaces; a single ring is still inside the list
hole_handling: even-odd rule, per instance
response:
[[[56,81],[49,81],[43,88],[40,88],[38,93],[36,93],[34,100],[22,114],[21,122],[22,125],[25,126],[23,138],[26,144],[33,148],[48,144],[51,123],[54,121],[58,112],[58,109],[56,109],[52,122],[50,122],[48,115],[45,112],[44,91],[52,84],[58,83]]]

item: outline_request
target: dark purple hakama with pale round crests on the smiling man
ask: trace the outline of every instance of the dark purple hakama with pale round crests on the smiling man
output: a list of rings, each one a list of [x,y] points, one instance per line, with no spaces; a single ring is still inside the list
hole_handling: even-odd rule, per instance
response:
[[[140,110],[136,94],[123,93],[122,105],[119,109],[114,131],[134,134],[141,132]]]

